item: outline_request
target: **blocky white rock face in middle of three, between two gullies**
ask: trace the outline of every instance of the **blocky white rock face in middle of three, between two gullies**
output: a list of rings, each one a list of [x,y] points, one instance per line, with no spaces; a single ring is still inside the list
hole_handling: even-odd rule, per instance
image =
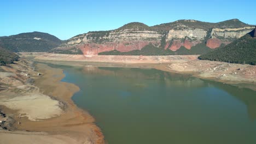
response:
[[[190,39],[197,39],[197,40],[202,40],[206,37],[207,31],[199,28],[185,28],[185,29],[171,29],[168,32],[167,39],[166,41],[170,41],[173,38],[174,39],[183,39],[185,37],[188,37]]]

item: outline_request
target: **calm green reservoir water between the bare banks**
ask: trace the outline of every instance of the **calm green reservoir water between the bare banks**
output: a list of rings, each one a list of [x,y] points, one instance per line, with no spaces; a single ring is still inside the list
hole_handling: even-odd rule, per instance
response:
[[[61,67],[106,141],[256,143],[256,92],[154,69]]]

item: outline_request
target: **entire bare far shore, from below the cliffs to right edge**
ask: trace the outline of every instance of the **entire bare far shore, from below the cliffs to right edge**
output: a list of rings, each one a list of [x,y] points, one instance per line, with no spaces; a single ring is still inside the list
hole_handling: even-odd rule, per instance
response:
[[[22,53],[27,56],[27,53]],[[32,55],[33,56],[33,55]],[[35,53],[36,61],[65,62],[96,62],[109,66],[109,63],[129,65],[129,67],[155,68],[174,73],[187,73],[202,79],[209,79],[230,84],[246,84],[243,87],[256,91],[256,65],[231,64],[225,62],[202,61],[199,55],[174,55],[174,56],[84,56],[65,55],[56,53]],[[104,64],[105,63],[105,64]],[[108,63],[108,64],[107,64]],[[74,64],[74,63],[73,63]],[[72,64],[72,65],[73,65]],[[75,65],[83,65],[82,63]],[[113,67],[113,65],[111,65]],[[247,85],[248,84],[248,85]]]

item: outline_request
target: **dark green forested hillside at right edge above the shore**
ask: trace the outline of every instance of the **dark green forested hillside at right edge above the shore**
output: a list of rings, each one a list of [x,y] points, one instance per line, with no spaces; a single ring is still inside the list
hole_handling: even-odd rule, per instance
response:
[[[199,56],[199,59],[229,63],[256,64],[255,29],[232,43]]]

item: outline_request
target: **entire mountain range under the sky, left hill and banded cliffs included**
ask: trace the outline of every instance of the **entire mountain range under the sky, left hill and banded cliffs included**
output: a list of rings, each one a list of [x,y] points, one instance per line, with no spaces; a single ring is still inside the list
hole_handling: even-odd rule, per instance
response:
[[[177,20],[155,26],[130,22],[117,29],[90,31],[75,35],[68,40],[60,40],[54,35],[42,32],[4,36],[0,37],[0,46],[13,52],[49,51],[84,55],[97,55],[108,51],[140,51],[143,47],[155,47],[160,49],[161,53],[161,49],[168,49],[173,51],[169,52],[170,55],[171,53],[183,55],[184,51],[188,54],[199,50],[207,52],[227,45],[250,32],[254,28],[252,26],[238,19],[216,23]],[[203,47],[205,49],[202,49]],[[191,49],[194,52],[190,52]]]

